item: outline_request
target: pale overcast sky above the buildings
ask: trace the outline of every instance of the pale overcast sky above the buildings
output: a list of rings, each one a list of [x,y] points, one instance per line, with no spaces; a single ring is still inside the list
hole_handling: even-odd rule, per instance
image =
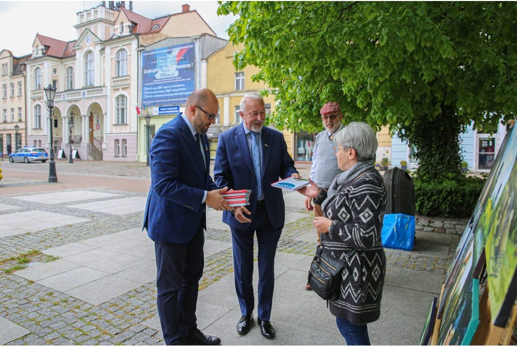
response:
[[[76,13],[99,4],[100,1],[0,1],[0,51],[8,49],[14,56],[29,54],[38,32],[62,41],[74,40],[77,38],[73,27],[77,24]],[[233,16],[218,17],[217,1],[134,1],[133,11],[152,19],[165,13],[181,12],[183,4],[197,10],[218,37],[228,39],[226,29],[235,19]]]

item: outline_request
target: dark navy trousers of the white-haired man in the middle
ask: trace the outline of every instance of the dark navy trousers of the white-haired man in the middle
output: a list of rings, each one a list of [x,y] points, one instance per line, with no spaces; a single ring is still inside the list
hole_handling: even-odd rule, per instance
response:
[[[269,222],[265,205],[258,205],[250,227],[243,231],[232,230],[233,264],[235,268],[235,290],[239,298],[241,314],[253,312],[253,234],[258,243],[258,311],[262,321],[269,321],[275,287],[275,254],[282,227],[273,228]]]

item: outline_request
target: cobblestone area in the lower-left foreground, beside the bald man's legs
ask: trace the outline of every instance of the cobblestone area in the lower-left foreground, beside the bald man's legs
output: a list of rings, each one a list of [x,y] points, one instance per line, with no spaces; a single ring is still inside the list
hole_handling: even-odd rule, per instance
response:
[[[31,331],[9,344],[164,344],[157,330],[142,324],[156,314],[151,282],[93,306],[23,278],[0,276],[0,316]]]

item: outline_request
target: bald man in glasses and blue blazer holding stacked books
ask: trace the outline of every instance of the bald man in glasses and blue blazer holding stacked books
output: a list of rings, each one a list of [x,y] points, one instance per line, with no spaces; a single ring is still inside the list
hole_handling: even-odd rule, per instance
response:
[[[151,187],[144,228],[155,242],[157,306],[168,345],[218,345],[221,340],[197,329],[196,305],[203,275],[206,204],[232,210],[209,175],[206,132],[215,123],[219,102],[209,89],[193,92],[185,114],[166,123],[149,150]]]

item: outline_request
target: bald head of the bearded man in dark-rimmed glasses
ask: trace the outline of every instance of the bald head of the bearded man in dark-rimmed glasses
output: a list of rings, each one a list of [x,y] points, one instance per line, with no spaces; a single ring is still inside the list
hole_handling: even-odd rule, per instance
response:
[[[210,124],[216,122],[215,119],[209,121],[208,116],[215,115],[218,111],[219,101],[216,95],[207,88],[197,89],[190,94],[187,102],[185,102],[185,116],[192,123],[197,133],[208,131]]]

